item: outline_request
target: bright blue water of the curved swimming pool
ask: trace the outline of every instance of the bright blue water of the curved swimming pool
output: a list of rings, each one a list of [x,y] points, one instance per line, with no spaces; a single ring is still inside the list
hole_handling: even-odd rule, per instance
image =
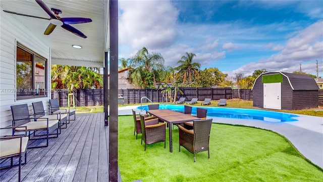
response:
[[[192,107],[192,114],[196,114],[196,106]],[[269,122],[284,122],[284,121],[297,121],[293,117],[298,117],[295,114],[265,111],[256,109],[237,109],[237,108],[224,108],[224,107],[199,107],[207,109],[207,116],[224,117],[224,118],[237,118],[237,119],[256,119]],[[141,109],[139,106],[138,109]],[[183,105],[169,105],[160,104],[159,109],[171,109],[173,111],[184,112]],[[142,106],[142,110],[148,110],[148,106]]]

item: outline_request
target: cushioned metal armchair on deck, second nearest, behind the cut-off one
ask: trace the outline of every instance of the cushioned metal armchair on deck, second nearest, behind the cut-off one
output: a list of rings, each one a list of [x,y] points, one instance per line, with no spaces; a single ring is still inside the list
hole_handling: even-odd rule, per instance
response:
[[[46,145],[44,146],[36,146],[29,148],[39,148],[39,147],[47,147],[49,138],[58,138],[59,136],[59,120],[48,120],[48,118],[44,118],[42,121],[35,121],[33,115],[29,114],[29,108],[27,104],[20,104],[11,106],[12,113],[12,125],[16,127],[12,130],[12,134],[15,132],[20,132],[23,129],[17,126],[26,126],[28,131],[29,140],[42,140],[46,139]],[[31,117],[32,116],[32,117]],[[30,132],[33,131],[33,138],[30,137]],[[36,131],[45,131],[45,134],[36,135]],[[56,131],[54,133],[54,131]],[[49,135],[54,134],[55,136],[49,137]],[[38,137],[45,135],[45,137]],[[35,137],[37,136],[37,137]]]

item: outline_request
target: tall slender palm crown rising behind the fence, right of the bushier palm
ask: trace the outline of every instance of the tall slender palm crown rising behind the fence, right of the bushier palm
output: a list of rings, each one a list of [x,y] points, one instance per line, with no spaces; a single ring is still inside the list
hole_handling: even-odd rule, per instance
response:
[[[186,53],[186,56],[182,56],[181,60],[179,60],[177,63],[181,64],[176,69],[179,71],[179,73],[183,74],[183,83],[186,82],[186,78],[188,77],[189,83],[192,82],[192,75],[198,74],[198,69],[201,67],[201,64],[199,63],[193,63],[193,57],[196,57],[193,53]]]

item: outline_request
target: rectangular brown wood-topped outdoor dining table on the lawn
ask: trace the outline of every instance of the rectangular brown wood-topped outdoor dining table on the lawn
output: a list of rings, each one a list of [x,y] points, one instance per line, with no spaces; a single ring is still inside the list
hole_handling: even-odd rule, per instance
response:
[[[200,119],[198,117],[187,115],[181,112],[176,112],[170,109],[148,110],[147,113],[154,115],[160,120],[169,123],[170,152],[173,152],[173,136],[172,136],[173,124],[180,124],[187,121]]]

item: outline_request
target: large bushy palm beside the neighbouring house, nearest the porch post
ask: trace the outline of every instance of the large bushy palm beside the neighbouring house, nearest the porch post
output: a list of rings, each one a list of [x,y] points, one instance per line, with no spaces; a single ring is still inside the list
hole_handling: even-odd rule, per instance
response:
[[[129,80],[137,87],[154,88],[154,83],[160,77],[160,71],[165,69],[164,58],[159,53],[149,54],[143,47],[132,58],[130,66],[133,70],[129,73]]]

